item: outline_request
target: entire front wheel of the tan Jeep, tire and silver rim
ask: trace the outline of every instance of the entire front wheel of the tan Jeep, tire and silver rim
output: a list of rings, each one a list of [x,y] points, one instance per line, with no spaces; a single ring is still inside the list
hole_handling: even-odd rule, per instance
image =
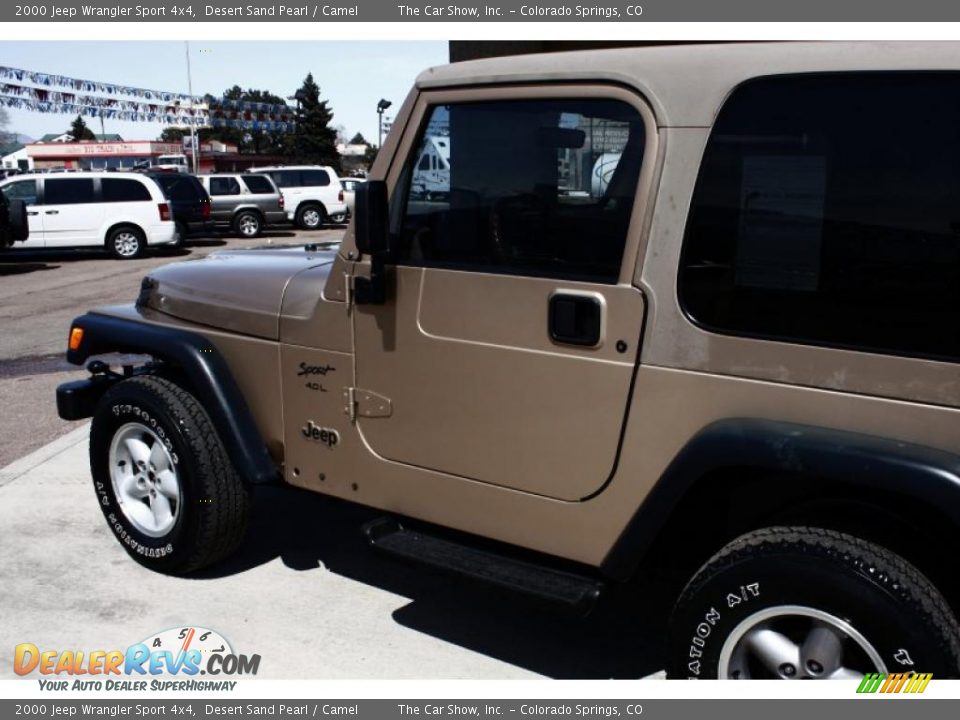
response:
[[[90,467],[110,530],[146,567],[197,570],[243,538],[246,487],[210,417],[169,380],[134,377],[107,391],[90,429]]]

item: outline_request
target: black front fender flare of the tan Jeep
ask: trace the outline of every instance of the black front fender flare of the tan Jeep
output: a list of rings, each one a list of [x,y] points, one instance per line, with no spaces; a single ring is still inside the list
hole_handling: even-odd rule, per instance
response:
[[[174,363],[190,380],[191,390],[210,415],[227,452],[236,458],[237,472],[250,483],[275,482],[276,464],[267,451],[247,402],[226,361],[209,340],[180,328],[87,313],[71,325],[83,329],[67,361],[82,365],[105,353],[152,355]]]

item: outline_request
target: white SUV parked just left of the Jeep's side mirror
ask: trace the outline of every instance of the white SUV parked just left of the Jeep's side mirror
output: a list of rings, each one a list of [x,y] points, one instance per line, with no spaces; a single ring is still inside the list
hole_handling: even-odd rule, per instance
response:
[[[287,219],[305,230],[325,222],[343,222],[347,206],[337,171],[326,165],[281,165],[252,168],[269,175],[283,195]]]

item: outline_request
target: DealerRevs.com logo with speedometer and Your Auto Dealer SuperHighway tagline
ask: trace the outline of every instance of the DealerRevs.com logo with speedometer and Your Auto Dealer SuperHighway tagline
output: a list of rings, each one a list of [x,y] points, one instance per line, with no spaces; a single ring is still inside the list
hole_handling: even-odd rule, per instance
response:
[[[260,656],[234,652],[214,630],[181,627],[126,650],[60,651],[21,643],[13,669],[46,676],[37,678],[41,690],[233,690],[237,681],[226,678],[256,675]]]

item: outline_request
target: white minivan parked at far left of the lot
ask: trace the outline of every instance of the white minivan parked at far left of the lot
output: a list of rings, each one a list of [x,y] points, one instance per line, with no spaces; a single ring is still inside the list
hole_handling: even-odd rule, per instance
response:
[[[27,206],[30,237],[17,249],[99,246],[129,259],[176,242],[163,192],[135,173],[16,175],[0,181],[0,192]]]

